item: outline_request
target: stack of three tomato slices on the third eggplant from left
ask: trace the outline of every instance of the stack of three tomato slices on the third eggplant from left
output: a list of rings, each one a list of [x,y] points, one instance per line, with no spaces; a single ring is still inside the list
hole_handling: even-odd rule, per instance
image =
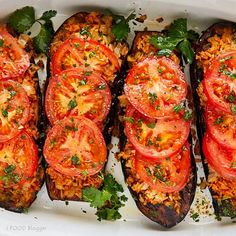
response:
[[[183,189],[190,174],[187,82],[172,60],[146,58],[128,73],[125,134],[135,149],[134,168],[141,181],[164,193]]]

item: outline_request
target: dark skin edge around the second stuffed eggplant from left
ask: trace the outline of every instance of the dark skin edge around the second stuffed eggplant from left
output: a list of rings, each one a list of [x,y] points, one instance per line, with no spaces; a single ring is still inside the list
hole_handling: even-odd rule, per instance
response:
[[[66,19],[62,24],[61,26],[57,29],[57,31],[55,32],[54,34],[54,37],[57,37],[57,35],[62,31],[64,32],[64,25],[67,24],[67,22],[69,20],[71,20],[72,18],[75,19],[76,22],[78,23],[86,23],[85,22],[85,16],[88,14],[88,12],[78,12],[78,13],[75,13],[74,15],[72,15],[71,17],[69,17],[68,19]],[[66,40],[66,38],[61,38],[61,40]],[[53,41],[53,40],[52,40]],[[125,40],[122,41],[122,43],[126,44],[127,47],[128,47],[128,44],[125,42]],[[51,54],[50,54],[50,48],[48,48],[48,52],[47,52],[47,79],[45,81],[45,85],[44,85],[44,97],[45,97],[45,94],[46,94],[46,90],[47,90],[47,86],[48,86],[48,83],[49,83],[49,80],[51,78]],[[126,61],[126,57],[121,57],[121,60],[124,62]],[[124,66],[124,63],[121,65],[121,70],[120,72],[117,72],[116,73],[116,78],[120,78],[120,74],[121,74],[121,71],[122,71],[122,67]],[[116,82],[112,83],[112,84],[109,84],[109,87],[110,87],[110,90],[111,90],[111,94],[112,94],[112,104],[111,104],[111,108],[110,108],[110,111],[109,111],[109,114],[107,115],[107,118],[106,120],[104,121],[104,130],[103,130],[103,137],[105,139],[105,142],[106,142],[106,145],[108,146],[109,144],[111,144],[111,137],[112,137],[112,127],[114,126],[114,122],[115,122],[115,117],[116,117],[116,106],[115,106],[115,103],[116,103]],[[44,106],[45,107],[45,106]],[[44,114],[46,114],[46,112],[44,111]],[[48,129],[50,128],[50,123],[49,123],[49,120],[47,118],[46,115],[44,115],[44,131],[45,133],[48,132]],[[109,150],[108,150],[108,153],[109,153]],[[69,201],[83,201],[83,199],[81,198],[78,198],[78,197],[75,197],[73,196],[72,198],[68,199],[68,198],[64,198],[62,199],[60,194],[59,194],[59,191],[55,188],[55,185],[53,183],[53,181],[51,180],[50,176],[46,173],[46,168],[48,167],[48,164],[46,162],[46,160],[44,159],[44,163],[45,163],[45,179],[46,179],[46,187],[47,187],[47,191],[48,191],[48,195],[49,195],[49,198],[53,201],[53,200],[61,200],[61,201],[65,201],[65,200],[69,200]],[[102,172],[105,172],[105,167],[106,165],[104,166],[104,169],[102,170]]]

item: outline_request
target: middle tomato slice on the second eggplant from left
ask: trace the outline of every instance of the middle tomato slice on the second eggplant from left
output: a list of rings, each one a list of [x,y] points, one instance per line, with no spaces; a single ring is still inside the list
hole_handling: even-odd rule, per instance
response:
[[[84,115],[102,126],[110,110],[111,93],[99,74],[85,76],[82,69],[66,70],[49,81],[45,106],[52,125],[68,115]]]

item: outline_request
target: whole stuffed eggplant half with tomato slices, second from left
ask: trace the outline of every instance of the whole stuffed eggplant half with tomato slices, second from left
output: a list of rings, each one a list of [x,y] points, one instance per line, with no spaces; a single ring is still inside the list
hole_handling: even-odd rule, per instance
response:
[[[128,53],[112,34],[113,19],[80,12],[56,32],[45,96],[46,183],[52,200],[82,200],[100,188],[115,112],[114,80]]]

